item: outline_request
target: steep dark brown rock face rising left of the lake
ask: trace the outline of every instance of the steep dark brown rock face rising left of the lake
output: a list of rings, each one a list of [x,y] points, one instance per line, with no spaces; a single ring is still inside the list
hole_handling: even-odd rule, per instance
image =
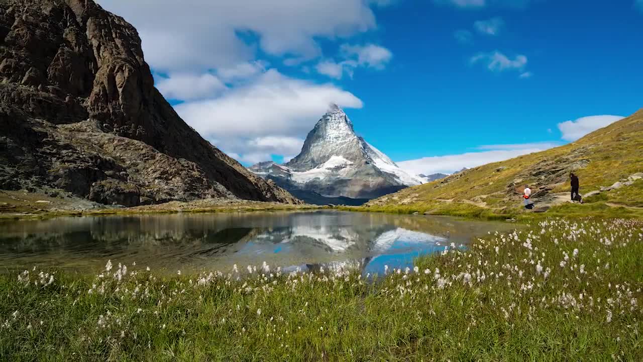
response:
[[[298,203],[179,118],[136,29],[91,0],[0,0],[0,188],[103,204]]]

